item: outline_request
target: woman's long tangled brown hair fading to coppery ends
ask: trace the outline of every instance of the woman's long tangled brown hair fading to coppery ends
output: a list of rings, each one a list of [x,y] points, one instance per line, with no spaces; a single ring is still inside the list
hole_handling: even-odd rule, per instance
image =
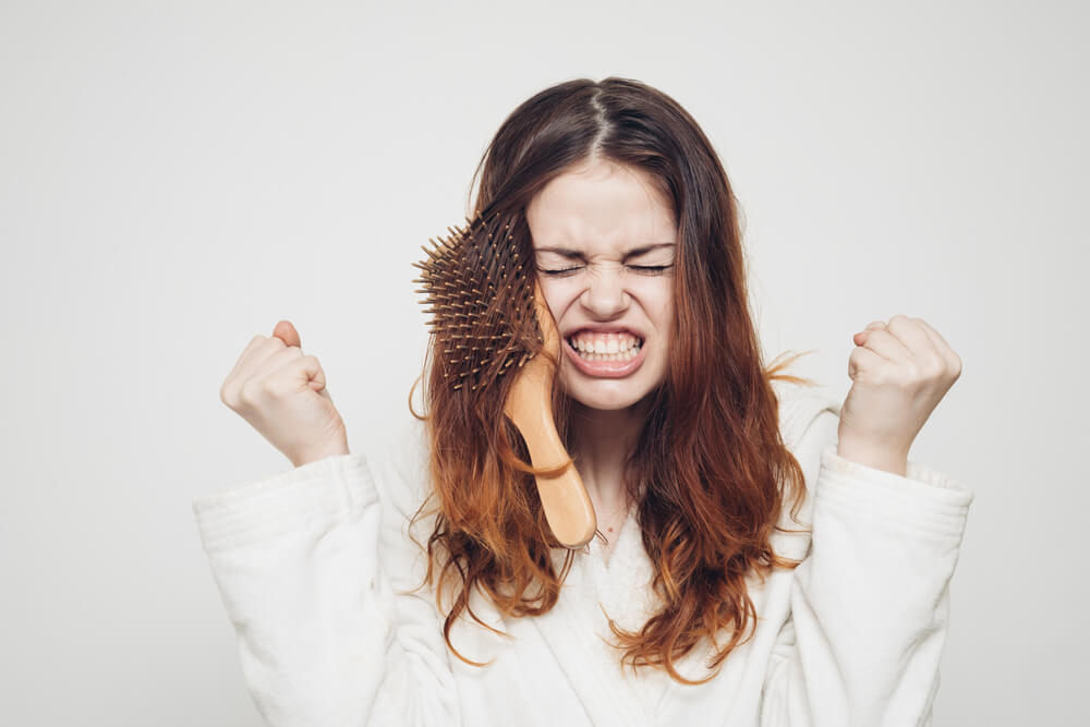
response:
[[[589,158],[649,172],[673,204],[679,251],[674,276],[674,336],[668,371],[649,395],[650,414],[626,463],[643,546],[661,608],[637,632],[610,628],[622,664],[662,668],[701,683],[744,643],[756,613],[746,577],[799,564],[774,553],[770,537],[785,502],[797,517],[803,473],[779,431],[773,379],[801,354],[767,369],[749,311],[737,199],[712,144],[681,106],[637,81],[582,78],[546,88],[502,123],[473,177],[471,209],[502,208],[520,221],[510,244],[533,259],[526,205],[546,183]],[[482,173],[483,169],[483,173]],[[472,184],[471,184],[472,192]],[[556,604],[574,553],[549,531],[525,444],[502,415],[511,375],[471,398],[452,391],[425,360],[431,494],[413,518],[435,514],[425,583],[434,583],[444,638],[477,589],[509,617],[540,616]],[[431,369],[429,369],[431,368]],[[505,380],[507,379],[507,380]],[[569,402],[554,415],[572,451]],[[415,414],[415,412],[414,412]],[[799,531],[785,531],[799,532]],[[423,546],[423,545],[422,545]],[[554,552],[557,558],[554,559]],[[562,559],[560,554],[562,553]],[[422,584],[423,586],[423,584]],[[449,610],[443,594],[449,589]],[[723,632],[729,638],[720,643]],[[697,681],[675,667],[706,639],[713,674]]]

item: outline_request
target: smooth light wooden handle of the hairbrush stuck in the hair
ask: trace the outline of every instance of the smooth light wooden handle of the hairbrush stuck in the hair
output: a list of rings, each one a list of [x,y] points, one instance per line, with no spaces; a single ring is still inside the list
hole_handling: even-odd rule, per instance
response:
[[[537,324],[545,336],[545,350],[559,358],[560,335],[553,323],[553,315],[536,286],[534,294],[538,308]],[[517,369],[514,375],[504,403],[504,413],[522,433],[530,450],[531,464],[553,468],[567,462],[568,452],[553,421],[553,363],[538,354]],[[534,480],[545,519],[556,538],[568,548],[586,545],[594,537],[597,520],[574,464],[556,477],[535,475]]]

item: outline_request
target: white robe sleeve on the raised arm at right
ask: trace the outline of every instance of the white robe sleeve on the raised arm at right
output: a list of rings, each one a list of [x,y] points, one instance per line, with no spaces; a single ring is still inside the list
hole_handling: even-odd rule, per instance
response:
[[[973,493],[911,460],[900,476],[839,457],[837,412],[822,410],[794,449],[812,540],[765,675],[761,725],[930,725]]]

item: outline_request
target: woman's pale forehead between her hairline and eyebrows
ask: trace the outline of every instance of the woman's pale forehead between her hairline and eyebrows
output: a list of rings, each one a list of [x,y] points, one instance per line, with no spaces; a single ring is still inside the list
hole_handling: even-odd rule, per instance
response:
[[[526,206],[526,223],[535,249],[608,254],[677,241],[673,209],[651,174],[608,160],[550,180]]]

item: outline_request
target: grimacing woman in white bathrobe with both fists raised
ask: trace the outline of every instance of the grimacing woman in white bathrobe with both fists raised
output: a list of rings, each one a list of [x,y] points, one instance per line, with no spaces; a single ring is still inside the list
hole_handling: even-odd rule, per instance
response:
[[[350,453],[281,322],[221,398],[295,469],[194,502],[266,720],[928,724],[972,493],[907,457],[954,351],[874,322],[839,407],[766,369],[727,177],[646,85],[547,88],[482,165],[475,208],[522,210],[564,338],[554,414],[602,538],[557,547],[511,425],[434,367],[404,450]]]

